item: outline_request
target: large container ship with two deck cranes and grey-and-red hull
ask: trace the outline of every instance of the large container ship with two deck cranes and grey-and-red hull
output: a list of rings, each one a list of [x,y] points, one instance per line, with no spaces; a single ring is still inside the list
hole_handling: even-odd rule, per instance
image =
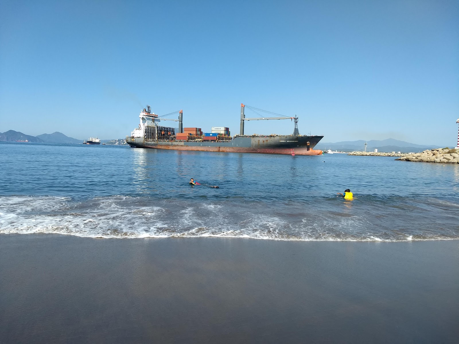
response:
[[[183,111],[179,118],[165,119],[151,112],[149,105],[140,112],[139,128],[135,128],[126,143],[131,147],[151,148],[162,150],[198,150],[211,152],[239,152],[239,153],[268,153],[288,155],[321,155],[322,150],[314,150],[316,144],[323,138],[321,135],[300,135],[298,132],[298,117],[254,117],[246,118],[244,110],[248,107],[257,111],[264,111],[241,104],[241,130],[239,135],[231,137],[229,128],[215,127],[212,133],[203,133],[201,128],[183,128]],[[254,110],[255,112],[255,110]],[[264,111],[272,113],[269,111]],[[255,112],[257,113],[257,112]],[[274,113],[272,113],[274,114]],[[278,115],[278,114],[276,114]],[[165,115],[166,116],[166,115]],[[281,120],[291,119],[295,123],[291,135],[244,135],[244,122],[254,120]],[[178,133],[171,127],[159,125],[161,121],[179,122]]]

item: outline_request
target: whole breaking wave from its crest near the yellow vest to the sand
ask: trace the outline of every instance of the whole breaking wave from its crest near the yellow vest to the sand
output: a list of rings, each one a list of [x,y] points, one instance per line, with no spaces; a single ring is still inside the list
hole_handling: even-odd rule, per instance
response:
[[[73,200],[4,196],[0,233],[88,238],[225,237],[269,240],[411,241],[459,239],[458,203],[397,197],[283,204],[108,196]]]

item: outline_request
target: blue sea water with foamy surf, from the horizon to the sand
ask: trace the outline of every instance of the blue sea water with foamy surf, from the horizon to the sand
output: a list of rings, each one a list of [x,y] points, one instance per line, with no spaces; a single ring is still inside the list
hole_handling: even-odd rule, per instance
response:
[[[459,165],[394,159],[2,142],[0,234],[459,239]]]

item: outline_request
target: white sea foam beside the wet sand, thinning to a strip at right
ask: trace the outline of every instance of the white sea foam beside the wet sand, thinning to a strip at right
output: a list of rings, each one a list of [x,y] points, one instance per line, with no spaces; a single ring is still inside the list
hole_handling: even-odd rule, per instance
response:
[[[158,201],[126,196],[74,201],[62,197],[3,197],[0,233],[56,233],[90,238],[224,237],[302,241],[458,239],[449,233],[405,234],[375,228],[365,214],[304,212],[298,217],[263,207],[218,202]],[[277,212],[276,212],[277,211]],[[300,210],[296,213],[301,215]]]

